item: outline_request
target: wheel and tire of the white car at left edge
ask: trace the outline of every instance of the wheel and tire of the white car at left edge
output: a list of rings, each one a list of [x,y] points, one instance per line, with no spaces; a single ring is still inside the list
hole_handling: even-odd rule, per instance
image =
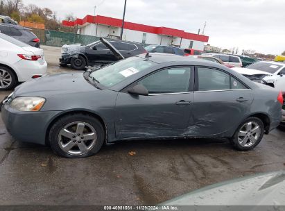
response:
[[[8,82],[8,79],[9,82]],[[0,90],[11,90],[17,85],[17,76],[12,69],[0,65]]]

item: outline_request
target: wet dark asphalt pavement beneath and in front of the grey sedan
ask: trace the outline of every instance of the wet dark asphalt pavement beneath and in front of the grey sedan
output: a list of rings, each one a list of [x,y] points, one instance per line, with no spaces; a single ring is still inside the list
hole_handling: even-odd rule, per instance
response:
[[[0,92],[0,100],[9,93]],[[0,205],[153,205],[205,185],[281,169],[281,130],[248,152],[235,151],[227,140],[151,140],[67,159],[49,146],[16,142],[0,118]]]

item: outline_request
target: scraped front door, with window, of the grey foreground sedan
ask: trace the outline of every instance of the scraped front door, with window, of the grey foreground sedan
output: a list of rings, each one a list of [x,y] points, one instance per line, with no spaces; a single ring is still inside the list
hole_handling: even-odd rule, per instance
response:
[[[119,92],[116,100],[116,137],[178,137],[189,125],[191,115],[191,67],[162,69],[137,84],[148,96]]]

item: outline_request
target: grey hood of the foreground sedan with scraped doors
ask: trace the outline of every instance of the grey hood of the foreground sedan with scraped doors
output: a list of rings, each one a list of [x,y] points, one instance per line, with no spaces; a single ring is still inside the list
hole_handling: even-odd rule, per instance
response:
[[[53,96],[76,92],[101,91],[88,83],[83,73],[55,74],[36,78],[15,88],[13,96]]]

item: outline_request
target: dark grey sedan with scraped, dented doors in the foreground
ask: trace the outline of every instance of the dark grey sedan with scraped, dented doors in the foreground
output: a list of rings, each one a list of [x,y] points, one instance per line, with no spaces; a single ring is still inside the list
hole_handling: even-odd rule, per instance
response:
[[[23,83],[3,101],[16,140],[83,158],[105,142],[227,137],[247,151],[279,125],[282,94],[223,65],[146,53]]]

